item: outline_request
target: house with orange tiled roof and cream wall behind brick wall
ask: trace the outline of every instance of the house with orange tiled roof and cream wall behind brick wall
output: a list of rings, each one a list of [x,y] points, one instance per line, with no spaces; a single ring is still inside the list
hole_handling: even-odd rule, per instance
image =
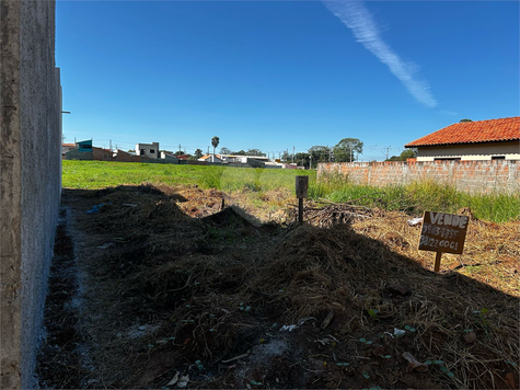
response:
[[[520,116],[455,123],[405,145],[417,161],[520,160]]]

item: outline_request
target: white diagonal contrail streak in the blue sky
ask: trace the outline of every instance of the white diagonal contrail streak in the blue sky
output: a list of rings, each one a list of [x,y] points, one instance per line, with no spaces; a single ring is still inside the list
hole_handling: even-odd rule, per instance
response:
[[[437,105],[428,82],[416,77],[417,66],[414,62],[404,62],[379,36],[378,26],[361,1],[323,0],[323,3],[353,31],[358,42],[389,67],[415,99],[427,107]]]

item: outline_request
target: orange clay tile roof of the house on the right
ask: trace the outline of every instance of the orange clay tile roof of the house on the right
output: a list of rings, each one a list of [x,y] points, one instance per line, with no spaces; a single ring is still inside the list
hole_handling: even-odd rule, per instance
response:
[[[405,148],[451,144],[520,140],[520,116],[455,123],[405,145]]]

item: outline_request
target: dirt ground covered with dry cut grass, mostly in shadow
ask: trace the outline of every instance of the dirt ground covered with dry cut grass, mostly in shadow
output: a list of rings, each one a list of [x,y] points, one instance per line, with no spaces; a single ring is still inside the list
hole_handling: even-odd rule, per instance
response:
[[[436,274],[404,213],[244,196],[65,190],[41,387],[519,388],[518,223]]]

